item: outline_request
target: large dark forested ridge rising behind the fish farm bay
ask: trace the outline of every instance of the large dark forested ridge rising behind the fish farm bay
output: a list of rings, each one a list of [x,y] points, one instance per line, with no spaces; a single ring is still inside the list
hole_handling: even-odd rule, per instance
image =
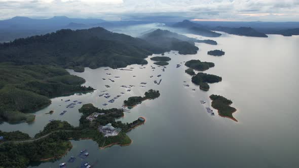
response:
[[[0,44],[0,62],[59,65],[70,69],[101,66],[118,68],[129,64],[146,64],[144,58],[148,55],[165,51],[142,39],[113,33],[101,27],[76,31],[62,29]]]

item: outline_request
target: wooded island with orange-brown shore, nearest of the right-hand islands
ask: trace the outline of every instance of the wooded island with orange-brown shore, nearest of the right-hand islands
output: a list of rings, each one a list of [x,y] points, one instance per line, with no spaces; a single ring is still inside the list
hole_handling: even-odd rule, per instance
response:
[[[218,114],[220,116],[227,117],[238,122],[238,120],[233,116],[233,113],[236,112],[237,109],[230,106],[233,103],[231,100],[219,95],[211,95],[210,99],[212,100],[212,107],[218,110]]]

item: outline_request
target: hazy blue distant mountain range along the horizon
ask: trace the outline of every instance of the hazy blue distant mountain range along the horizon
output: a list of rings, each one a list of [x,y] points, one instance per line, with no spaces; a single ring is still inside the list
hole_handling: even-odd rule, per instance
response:
[[[154,22],[142,20],[105,21],[102,19],[80,19],[65,16],[55,16],[49,19],[31,19],[17,16],[7,20],[0,20],[0,43],[16,38],[55,32],[66,28],[88,29],[92,27],[104,27],[109,30],[117,31],[124,27],[149,23]],[[299,29],[299,22],[199,22],[183,20],[177,23],[165,22],[165,24],[176,32],[192,33],[207,37],[217,37],[221,35],[220,33],[214,32],[214,30],[238,35],[266,37],[265,34],[297,35]]]

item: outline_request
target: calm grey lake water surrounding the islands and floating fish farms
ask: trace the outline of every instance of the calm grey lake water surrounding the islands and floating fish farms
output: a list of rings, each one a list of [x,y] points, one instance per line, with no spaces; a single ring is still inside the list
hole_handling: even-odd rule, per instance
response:
[[[188,34],[192,37],[199,37]],[[113,146],[98,149],[91,140],[71,141],[73,148],[66,156],[54,162],[44,162],[31,167],[58,167],[71,155],[87,149],[89,162],[98,162],[95,167],[296,167],[299,165],[299,36],[283,37],[270,35],[269,38],[243,37],[224,34],[215,38],[217,46],[197,44],[197,55],[179,55],[177,52],[166,53],[171,57],[165,72],[162,67],[148,64],[131,65],[133,71],[89,69],[83,73],[70,71],[86,79],[86,86],[97,90],[84,95],[72,95],[52,99],[52,104],[36,112],[33,123],[3,123],[3,131],[20,130],[35,135],[43,129],[50,119],[66,120],[74,126],[79,124],[81,114],[76,105],[60,116],[65,110],[61,99],[79,100],[93,103],[100,108],[121,107],[130,96],[142,96],[149,89],[156,89],[161,96],[155,100],[146,100],[134,107],[131,113],[125,113],[120,120],[132,122],[139,116],[146,118],[145,124],[128,133],[133,140],[130,146]],[[208,56],[209,50],[222,49],[225,56]],[[152,56],[151,56],[152,57]],[[205,71],[219,75],[222,81],[210,85],[208,92],[200,91],[193,85],[191,76],[184,73],[183,61],[199,59],[214,62],[215,67]],[[180,68],[176,64],[182,63]],[[153,71],[151,65],[156,69]],[[106,75],[111,73],[112,75]],[[161,85],[154,80],[162,76]],[[133,77],[136,75],[136,77]],[[153,75],[153,78],[149,76]],[[120,78],[115,78],[120,76]],[[115,82],[102,80],[111,78]],[[190,87],[184,87],[186,81]],[[147,82],[141,88],[140,82]],[[109,85],[107,89],[104,85]],[[121,85],[135,85],[131,92]],[[196,89],[193,91],[192,89]],[[125,92],[115,103],[102,106],[108,100],[98,97],[107,90],[111,98]],[[234,113],[239,122],[211,116],[205,110],[210,105],[208,96],[220,94],[231,99]],[[206,105],[200,100],[207,101]],[[55,112],[45,114],[54,109]],[[80,159],[68,163],[68,167],[79,167]]]

